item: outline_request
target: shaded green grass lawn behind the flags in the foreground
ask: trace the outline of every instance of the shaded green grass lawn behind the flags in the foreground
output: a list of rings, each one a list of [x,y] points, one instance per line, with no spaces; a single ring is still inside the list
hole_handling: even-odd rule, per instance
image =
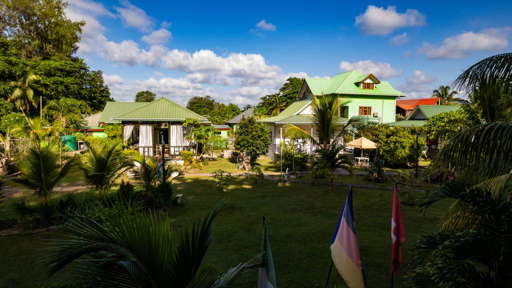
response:
[[[216,191],[208,177],[180,177],[174,181],[174,193],[184,194],[181,207],[165,210],[176,232],[194,219],[205,215],[221,198],[228,202],[216,219],[214,240],[205,264],[223,271],[249,259],[260,251],[262,216],[274,257],[278,285],[281,287],[324,287],[330,264],[330,239],[347,196],[347,187],[293,183],[278,187],[270,180],[252,187],[246,178],[232,179],[226,193]],[[392,191],[354,188],[354,214],[361,260],[370,287],[390,285],[390,218]],[[417,195],[421,197],[421,194]],[[408,271],[409,250],[422,233],[435,231],[442,211],[449,203],[438,204],[426,213],[402,205],[408,240],[404,244],[404,263],[395,286],[403,287],[402,276]],[[29,236],[0,236],[0,287],[41,287],[71,280],[69,271],[46,278],[46,267],[39,263],[48,233]],[[254,287],[257,273],[250,272],[235,287]],[[344,287],[333,270],[331,287]]]

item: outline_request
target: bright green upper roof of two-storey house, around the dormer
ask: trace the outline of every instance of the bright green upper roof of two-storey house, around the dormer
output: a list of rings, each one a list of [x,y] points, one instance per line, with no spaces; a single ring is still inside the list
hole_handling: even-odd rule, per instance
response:
[[[362,89],[358,83],[368,75],[351,70],[338,74],[330,79],[306,78],[306,83],[313,95],[322,94],[355,94],[355,95],[387,95],[387,96],[406,96],[389,84],[388,81],[380,81],[375,84],[375,89]]]

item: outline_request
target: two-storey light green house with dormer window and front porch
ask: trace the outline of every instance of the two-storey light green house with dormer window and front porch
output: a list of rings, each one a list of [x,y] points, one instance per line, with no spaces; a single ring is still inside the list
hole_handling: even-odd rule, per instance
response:
[[[313,135],[311,98],[316,95],[337,95],[349,100],[339,111],[339,124],[346,124],[352,116],[367,116],[375,124],[395,121],[396,99],[405,94],[395,90],[388,81],[380,81],[373,74],[362,74],[356,70],[338,74],[330,79],[306,78],[297,100],[279,115],[261,119],[270,130],[272,139],[268,156],[274,153],[283,139],[283,129],[293,124]],[[304,149],[313,151],[311,146]]]

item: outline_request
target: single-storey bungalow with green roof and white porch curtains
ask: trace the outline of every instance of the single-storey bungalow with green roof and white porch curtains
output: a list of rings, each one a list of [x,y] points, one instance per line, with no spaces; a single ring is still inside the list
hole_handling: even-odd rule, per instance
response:
[[[108,102],[98,122],[121,124],[123,142],[138,149],[141,155],[155,155],[157,144],[163,141],[165,153],[170,156],[194,149],[185,139],[187,131],[182,125],[186,118],[210,124],[205,117],[167,98],[153,102]]]

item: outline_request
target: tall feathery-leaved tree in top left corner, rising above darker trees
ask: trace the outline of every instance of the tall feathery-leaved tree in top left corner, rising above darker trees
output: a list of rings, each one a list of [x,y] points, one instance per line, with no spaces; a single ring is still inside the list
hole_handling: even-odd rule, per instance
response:
[[[66,15],[61,0],[2,0],[0,35],[29,59],[69,59],[78,49],[84,21]]]

